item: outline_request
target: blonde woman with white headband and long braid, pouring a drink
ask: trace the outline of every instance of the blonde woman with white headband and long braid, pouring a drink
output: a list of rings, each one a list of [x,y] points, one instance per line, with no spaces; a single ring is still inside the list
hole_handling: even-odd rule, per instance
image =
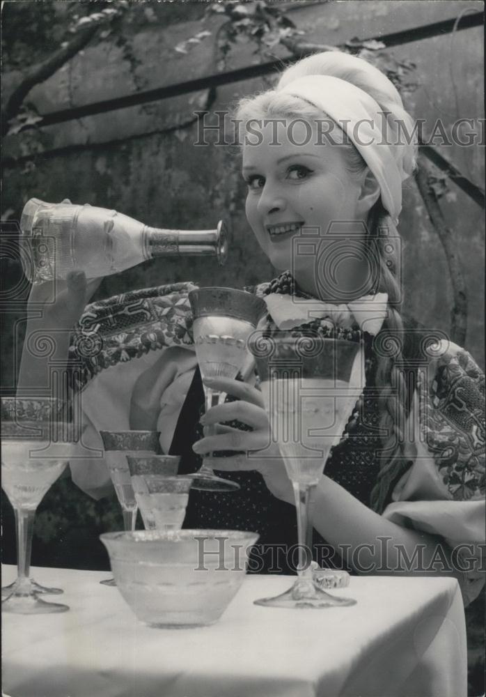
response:
[[[358,573],[453,574],[467,604],[483,585],[484,376],[467,351],[400,312],[396,224],[415,166],[413,121],[382,72],[340,52],[299,61],[235,116],[246,217],[277,272],[251,289],[267,302],[268,330],[359,336],[366,347],[363,395],[313,501],[320,561]],[[318,257],[296,252],[306,235],[320,237]],[[70,287],[79,298],[82,289]],[[216,435],[198,425],[192,287],[135,291],[86,309],[70,355],[84,361],[88,432],[99,445],[100,429],[157,427],[162,449],[182,454],[186,471],[198,467],[194,454],[217,452],[217,473],[241,489],[194,491],[185,526],[256,530],[254,570],[285,571],[285,553],[267,552],[297,540],[292,487],[278,451],[258,458],[269,442],[258,386],[213,383],[235,399],[203,417],[205,427],[219,424]],[[73,319],[68,312],[62,321]],[[101,343],[90,351],[83,342],[93,342],[93,327]],[[102,461],[71,469],[93,496],[109,491]]]

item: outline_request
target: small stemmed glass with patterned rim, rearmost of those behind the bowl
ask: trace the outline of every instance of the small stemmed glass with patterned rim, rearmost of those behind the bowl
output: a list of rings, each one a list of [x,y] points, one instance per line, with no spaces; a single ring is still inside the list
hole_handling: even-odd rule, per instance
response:
[[[104,458],[123,512],[125,532],[135,529],[138,506],[130,479],[127,455],[150,456],[160,450],[160,431],[100,431]],[[102,585],[116,585],[115,579],[100,581]]]

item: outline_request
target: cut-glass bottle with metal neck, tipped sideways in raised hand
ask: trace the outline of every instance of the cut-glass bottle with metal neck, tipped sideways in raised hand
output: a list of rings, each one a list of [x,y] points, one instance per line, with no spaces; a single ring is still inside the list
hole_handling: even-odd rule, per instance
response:
[[[158,256],[216,256],[223,266],[228,254],[222,220],[214,230],[166,230],[68,199],[60,204],[30,199],[20,229],[29,247],[24,272],[34,284],[65,279],[75,268],[87,278],[108,276]]]

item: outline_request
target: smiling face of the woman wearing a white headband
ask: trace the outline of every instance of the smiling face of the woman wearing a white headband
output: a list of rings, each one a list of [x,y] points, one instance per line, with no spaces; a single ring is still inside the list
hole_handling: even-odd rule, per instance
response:
[[[299,120],[290,127],[288,119],[276,135],[275,123],[269,121],[258,130],[252,125],[253,132],[258,132],[258,144],[243,146],[242,174],[248,185],[246,217],[274,267],[279,271],[291,269],[299,286],[316,294],[316,257],[312,246],[301,245],[300,240],[306,233],[320,235],[322,254],[331,223],[346,221],[346,231],[354,232],[355,243],[362,245],[363,234],[359,231],[363,225],[356,225],[356,221],[363,220],[359,208],[361,178],[350,177],[343,146],[327,141],[318,144],[312,122],[309,137],[310,130]],[[257,138],[252,137],[252,141]],[[333,236],[331,232],[328,237]]]

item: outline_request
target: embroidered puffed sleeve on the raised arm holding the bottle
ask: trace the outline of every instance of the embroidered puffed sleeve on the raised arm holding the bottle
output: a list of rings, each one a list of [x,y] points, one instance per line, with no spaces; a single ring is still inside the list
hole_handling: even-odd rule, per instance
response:
[[[179,283],[88,305],[70,345],[73,408],[85,452],[70,461],[73,482],[93,498],[111,493],[100,430],[161,431],[164,452],[196,367],[187,298]]]

